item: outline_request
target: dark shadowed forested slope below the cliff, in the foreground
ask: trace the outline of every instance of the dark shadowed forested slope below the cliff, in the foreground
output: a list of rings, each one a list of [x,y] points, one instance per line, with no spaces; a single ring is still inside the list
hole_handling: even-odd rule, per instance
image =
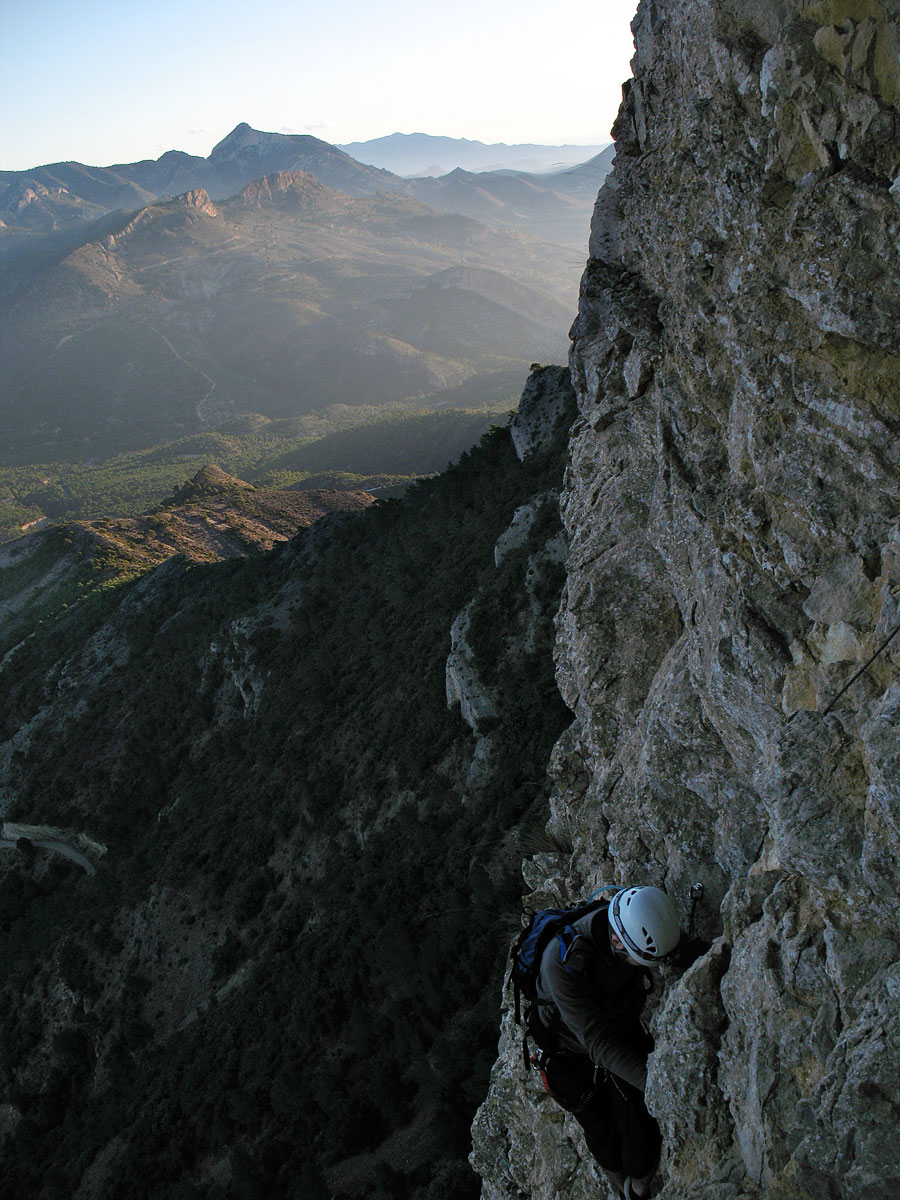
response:
[[[570,419],[266,556],[173,559],[6,656],[0,814],[97,850],[94,875],[0,854],[4,1200],[478,1194],[498,917],[568,721]]]

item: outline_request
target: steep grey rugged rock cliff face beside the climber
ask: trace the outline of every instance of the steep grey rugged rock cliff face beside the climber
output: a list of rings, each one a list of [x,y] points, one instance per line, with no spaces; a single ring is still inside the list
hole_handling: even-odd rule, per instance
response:
[[[629,881],[686,907],[706,884],[713,948],[653,1015],[659,1195],[887,1200],[898,6],[644,0],[632,28],[572,330],[564,848],[526,864],[528,904]],[[605,1194],[509,1016],[474,1134],[486,1200]]]

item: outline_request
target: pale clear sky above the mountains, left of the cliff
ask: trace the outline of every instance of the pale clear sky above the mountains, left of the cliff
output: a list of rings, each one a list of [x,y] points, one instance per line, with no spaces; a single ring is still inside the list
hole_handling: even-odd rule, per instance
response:
[[[240,121],[354,142],[594,144],[637,0],[0,0],[0,168],[208,155]]]

